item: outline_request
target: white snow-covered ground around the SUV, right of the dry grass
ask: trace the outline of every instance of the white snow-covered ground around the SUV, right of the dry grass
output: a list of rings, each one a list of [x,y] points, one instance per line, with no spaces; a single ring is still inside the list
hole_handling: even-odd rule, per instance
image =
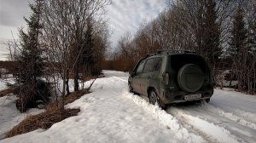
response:
[[[216,89],[209,104],[164,111],[128,92],[127,73],[104,74],[66,106],[78,116],[0,142],[256,142],[256,96]]]

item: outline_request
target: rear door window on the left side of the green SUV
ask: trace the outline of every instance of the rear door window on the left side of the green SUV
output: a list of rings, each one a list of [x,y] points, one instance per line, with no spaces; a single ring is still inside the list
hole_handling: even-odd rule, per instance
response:
[[[152,58],[148,59],[144,67],[143,72],[156,72],[160,69],[162,59],[161,58]]]

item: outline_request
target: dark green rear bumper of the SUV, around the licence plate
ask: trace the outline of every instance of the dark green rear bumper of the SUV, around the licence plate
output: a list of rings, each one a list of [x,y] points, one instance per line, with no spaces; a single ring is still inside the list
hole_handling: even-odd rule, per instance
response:
[[[213,94],[213,87],[209,86],[207,89],[201,89],[200,91],[196,91],[193,93],[188,93],[183,91],[173,91],[171,89],[160,89],[160,99],[165,104],[191,101],[191,100],[184,100],[184,96],[189,94],[201,94],[201,98],[197,98],[193,100],[210,99]]]

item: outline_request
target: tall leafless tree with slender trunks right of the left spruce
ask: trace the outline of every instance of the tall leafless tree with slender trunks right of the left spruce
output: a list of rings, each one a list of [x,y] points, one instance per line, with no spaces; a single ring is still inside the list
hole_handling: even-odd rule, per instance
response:
[[[44,43],[50,63],[56,63],[55,67],[63,79],[62,99],[66,91],[69,94],[69,75],[77,66],[79,55],[83,52],[80,44],[87,21],[95,14],[100,14],[101,9],[108,3],[108,0],[45,0]]]

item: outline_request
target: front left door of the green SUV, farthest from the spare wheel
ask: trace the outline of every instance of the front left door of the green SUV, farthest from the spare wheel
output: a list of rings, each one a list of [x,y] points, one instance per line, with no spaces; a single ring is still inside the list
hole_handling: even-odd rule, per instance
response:
[[[145,61],[146,60],[141,60],[138,64],[137,64],[137,68],[135,70],[135,74],[132,77],[131,80],[131,86],[133,88],[133,90],[139,94],[141,94],[140,92],[140,84],[141,84],[141,76],[143,73],[143,67],[145,65]]]

